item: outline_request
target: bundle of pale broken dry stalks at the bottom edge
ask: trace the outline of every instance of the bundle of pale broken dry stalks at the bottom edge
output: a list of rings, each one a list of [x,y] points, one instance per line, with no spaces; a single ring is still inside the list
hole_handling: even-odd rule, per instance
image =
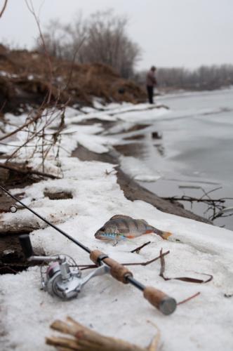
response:
[[[153,338],[147,348],[128,343],[127,341],[102,336],[101,334],[79,324],[68,317],[68,323],[56,320],[51,324],[51,329],[74,336],[74,338],[50,337],[46,338],[48,345],[58,347],[58,350],[79,350],[79,351],[156,351],[159,340],[159,333]]]

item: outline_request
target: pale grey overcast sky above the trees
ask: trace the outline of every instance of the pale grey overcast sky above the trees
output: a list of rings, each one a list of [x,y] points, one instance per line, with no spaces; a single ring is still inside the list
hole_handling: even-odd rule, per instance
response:
[[[0,0],[0,6],[4,0]],[[71,22],[113,8],[127,15],[128,35],[142,48],[138,69],[233,63],[233,0],[33,0],[41,4],[42,29],[49,20]],[[1,8],[0,7],[0,8]],[[38,29],[24,0],[8,0],[0,18],[0,41],[32,48]]]

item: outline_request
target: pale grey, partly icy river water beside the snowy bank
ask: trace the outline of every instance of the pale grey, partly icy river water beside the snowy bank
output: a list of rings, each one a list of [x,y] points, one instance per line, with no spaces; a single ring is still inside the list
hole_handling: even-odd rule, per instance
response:
[[[149,138],[138,141],[140,153],[135,157],[161,178],[140,183],[161,197],[199,199],[210,192],[212,199],[233,198],[233,89],[173,93],[157,98],[157,102],[170,110],[164,118],[149,121]],[[154,138],[153,132],[157,132]],[[206,204],[182,204],[206,218],[213,216]],[[233,199],[224,206],[233,206]],[[217,218],[214,223],[233,230],[233,216]]]

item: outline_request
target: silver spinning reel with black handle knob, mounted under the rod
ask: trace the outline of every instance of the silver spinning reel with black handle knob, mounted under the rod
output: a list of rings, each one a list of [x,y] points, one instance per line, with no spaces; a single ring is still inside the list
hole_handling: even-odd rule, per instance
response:
[[[67,255],[34,256],[28,234],[20,235],[22,251],[28,261],[39,261],[41,265],[41,287],[51,296],[62,300],[76,298],[83,286],[93,277],[109,272],[105,264],[81,277],[81,270],[73,258]]]

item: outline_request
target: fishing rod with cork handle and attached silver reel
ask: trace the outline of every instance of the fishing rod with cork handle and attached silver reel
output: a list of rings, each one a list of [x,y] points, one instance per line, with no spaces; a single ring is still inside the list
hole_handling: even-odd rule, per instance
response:
[[[109,256],[102,251],[89,249],[84,244],[81,244],[80,241],[74,239],[59,227],[46,220],[46,218],[42,217],[39,213],[36,213],[36,211],[34,211],[32,208],[29,208],[29,206],[25,205],[1,185],[0,189],[8,194],[12,199],[17,201],[17,203],[21,204],[24,208],[27,208],[27,210],[32,212],[36,217],[43,220],[44,223],[48,224],[50,227],[53,227],[53,229],[57,230],[60,232],[60,234],[64,235],[67,237],[67,239],[73,241],[74,244],[89,253],[90,259],[93,261],[93,263],[95,263],[95,265],[98,266],[98,268],[96,268],[91,274],[88,274],[88,276],[82,278],[81,271],[77,268],[77,265],[72,258],[66,255],[34,256],[29,235],[21,235],[20,244],[27,260],[37,260],[45,263],[51,263],[46,272],[43,270],[44,266],[41,268],[41,284],[43,288],[48,291],[48,293],[59,296],[63,299],[73,298],[77,296],[77,294],[81,291],[82,286],[84,286],[89,279],[98,275],[109,273],[119,282],[123,284],[131,284],[135,286],[135,288],[142,291],[144,298],[163,314],[171,314],[175,311],[177,303],[174,298],[166,295],[166,293],[160,291],[159,289],[155,289],[152,286],[145,286],[144,284],[138,282],[138,280],[133,278],[133,273],[124,265],[121,265],[121,263],[118,263],[116,260],[109,258]],[[13,205],[11,207],[12,212],[17,211],[17,206]],[[71,266],[75,266],[76,268],[73,270],[70,268]]]

